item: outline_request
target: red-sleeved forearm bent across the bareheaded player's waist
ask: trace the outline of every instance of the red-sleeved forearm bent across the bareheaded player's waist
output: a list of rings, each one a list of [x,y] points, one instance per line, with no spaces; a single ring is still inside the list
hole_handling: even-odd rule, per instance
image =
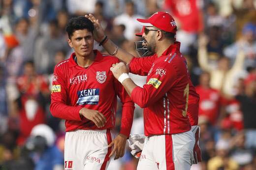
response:
[[[67,106],[62,102],[53,102],[50,105],[54,117],[70,121],[81,121],[80,110],[81,107]]]

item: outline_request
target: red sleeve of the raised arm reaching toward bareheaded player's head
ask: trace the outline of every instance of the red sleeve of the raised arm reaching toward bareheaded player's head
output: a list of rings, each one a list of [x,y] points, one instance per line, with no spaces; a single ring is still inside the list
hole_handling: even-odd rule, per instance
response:
[[[155,55],[149,57],[133,57],[129,63],[130,73],[138,75],[148,75],[154,61]]]

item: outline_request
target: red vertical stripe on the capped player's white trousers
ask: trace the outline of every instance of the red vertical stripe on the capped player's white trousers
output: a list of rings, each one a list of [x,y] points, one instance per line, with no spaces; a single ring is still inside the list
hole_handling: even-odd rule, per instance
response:
[[[175,170],[173,157],[172,157],[171,135],[165,135],[165,160],[166,160],[166,170]]]

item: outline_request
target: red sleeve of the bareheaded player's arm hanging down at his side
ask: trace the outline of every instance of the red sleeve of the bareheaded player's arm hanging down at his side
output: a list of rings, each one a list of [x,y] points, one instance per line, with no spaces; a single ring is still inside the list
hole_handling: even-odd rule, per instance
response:
[[[129,95],[127,94],[124,86],[115,78],[114,79],[114,88],[116,94],[121,99],[123,103],[122,110],[122,120],[121,120],[121,130],[120,133],[129,137],[130,129],[133,121],[133,113],[134,113],[134,102],[131,100]]]

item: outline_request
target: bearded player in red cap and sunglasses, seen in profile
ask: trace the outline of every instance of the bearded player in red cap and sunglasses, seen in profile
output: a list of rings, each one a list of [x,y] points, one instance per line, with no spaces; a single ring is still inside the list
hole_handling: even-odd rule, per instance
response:
[[[190,170],[196,149],[193,131],[198,129],[191,125],[197,125],[198,119],[196,114],[189,115],[189,98],[192,109],[198,107],[199,97],[190,90],[193,86],[187,62],[180,52],[180,43],[175,41],[174,19],[166,12],[157,12],[146,20],[137,19],[144,26],[144,46],[153,55],[135,58],[104,36],[93,15],[86,17],[94,22],[96,41],[128,64],[128,67],[123,62],[113,64],[111,71],[132,100],[144,108],[147,137],[137,169]],[[142,88],[137,86],[128,72],[147,75],[147,83]],[[194,118],[190,120],[189,116]]]

